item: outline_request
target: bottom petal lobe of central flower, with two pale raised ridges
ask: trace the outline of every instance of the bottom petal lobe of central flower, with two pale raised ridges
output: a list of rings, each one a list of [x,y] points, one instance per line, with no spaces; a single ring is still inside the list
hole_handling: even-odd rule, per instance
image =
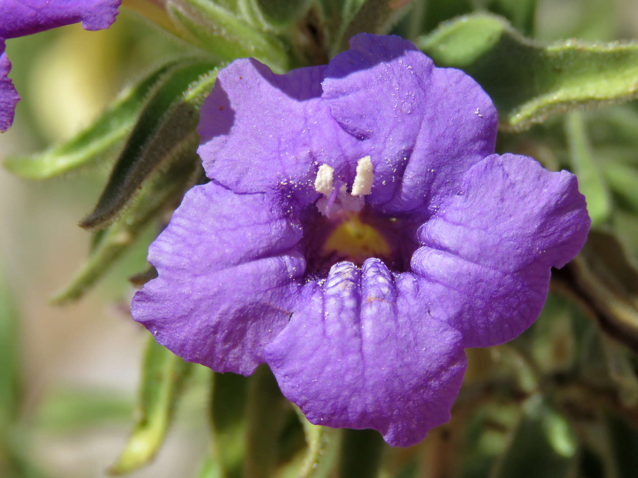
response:
[[[408,446],[450,418],[466,358],[461,334],[427,312],[420,280],[368,259],[309,282],[266,347],[283,394],[311,423],[374,428]]]

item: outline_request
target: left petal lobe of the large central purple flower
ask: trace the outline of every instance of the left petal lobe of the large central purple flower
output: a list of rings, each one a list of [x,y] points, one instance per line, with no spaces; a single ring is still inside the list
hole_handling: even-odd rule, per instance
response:
[[[188,361],[253,373],[288,323],[306,266],[300,235],[265,194],[194,187],[149,248],[159,276],[135,294],[133,319]]]

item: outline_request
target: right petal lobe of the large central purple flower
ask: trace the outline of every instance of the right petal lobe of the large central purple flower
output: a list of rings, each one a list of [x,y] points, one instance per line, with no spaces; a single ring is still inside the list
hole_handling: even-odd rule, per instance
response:
[[[432,314],[463,331],[465,347],[501,344],[535,321],[550,268],[574,258],[589,228],[574,175],[493,155],[419,229],[412,270],[431,284]]]

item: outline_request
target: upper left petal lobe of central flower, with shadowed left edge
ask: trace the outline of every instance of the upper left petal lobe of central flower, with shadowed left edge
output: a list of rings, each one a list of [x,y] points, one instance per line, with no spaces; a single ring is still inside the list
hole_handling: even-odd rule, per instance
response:
[[[320,99],[324,69],[276,75],[255,59],[241,59],[220,71],[200,113],[198,153],[206,175],[235,192],[263,192],[284,182],[316,198],[318,164],[336,174],[346,158],[356,164],[358,141]]]

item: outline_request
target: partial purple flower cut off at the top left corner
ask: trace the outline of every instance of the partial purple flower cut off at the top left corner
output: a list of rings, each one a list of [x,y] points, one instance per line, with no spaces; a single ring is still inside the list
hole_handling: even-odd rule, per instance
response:
[[[82,22],[86,30],[101,30],[115,22],[122,0],[0,0],[0,131],[13,123],[20,100],[7,77],[11,62],[4,40]]]

